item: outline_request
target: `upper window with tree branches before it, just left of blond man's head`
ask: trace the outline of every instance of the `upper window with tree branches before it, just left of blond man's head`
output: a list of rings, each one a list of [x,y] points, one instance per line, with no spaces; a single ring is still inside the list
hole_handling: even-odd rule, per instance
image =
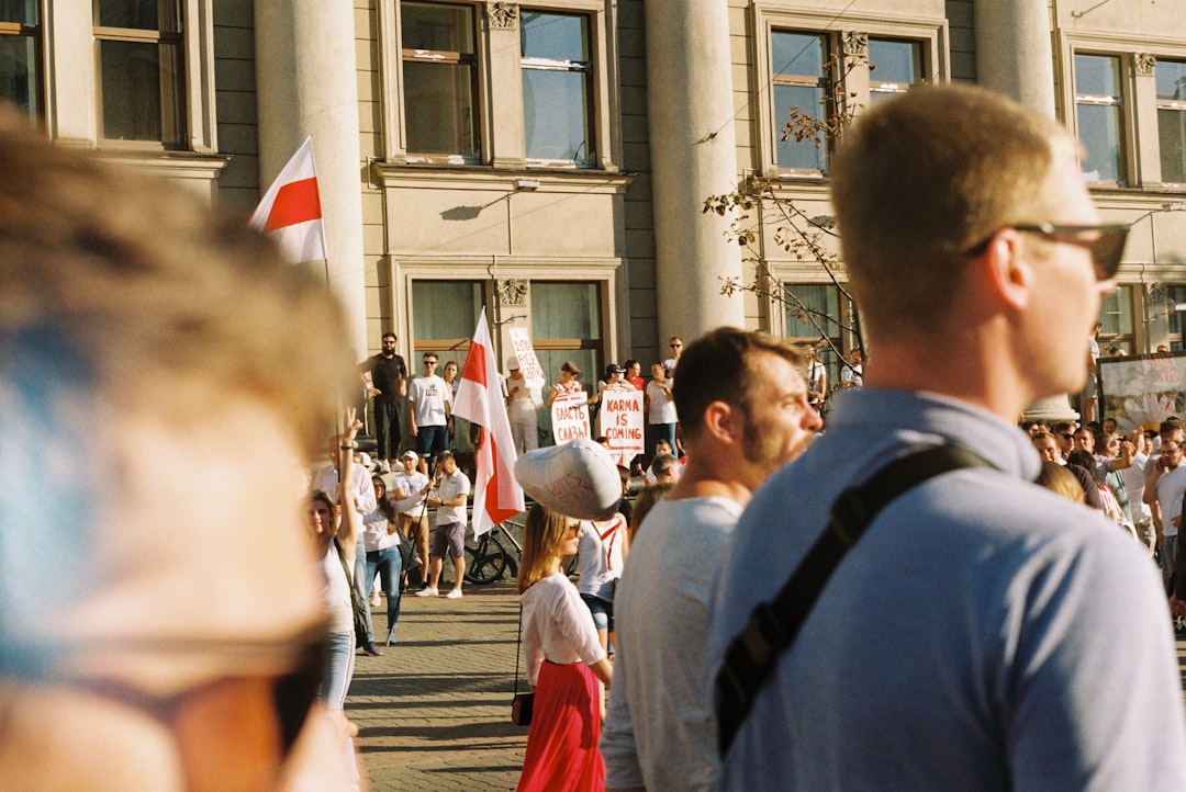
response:
[[[816,33],[773,31],[770,36],[773,73],[774,162],[780,169],[823,170],[828,141],[820,128],[831,115],[827,38]],[[798,140],[795,131],[799,133]]]

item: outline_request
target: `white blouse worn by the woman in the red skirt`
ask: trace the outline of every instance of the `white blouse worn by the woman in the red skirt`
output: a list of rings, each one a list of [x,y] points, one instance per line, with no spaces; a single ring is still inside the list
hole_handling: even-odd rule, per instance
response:
[[[593,614],[565,575],[559,572],[548,575],[523,592],[519,601],[528,684],[536,683],[544,659],[568,665],[595,663],[605,657]]]

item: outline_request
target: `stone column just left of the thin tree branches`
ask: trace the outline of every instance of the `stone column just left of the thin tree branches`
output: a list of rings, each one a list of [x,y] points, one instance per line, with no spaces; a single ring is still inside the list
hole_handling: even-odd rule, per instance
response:
[[[738,182],[727,0],[645,0],[646,82],[662,343],[720,324],[745,326],[745,301],[721,295],[741,277],[728,218],[703,200]]]

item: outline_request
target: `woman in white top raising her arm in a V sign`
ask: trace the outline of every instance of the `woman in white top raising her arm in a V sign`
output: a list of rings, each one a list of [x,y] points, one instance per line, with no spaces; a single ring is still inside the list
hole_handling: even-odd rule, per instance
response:
[[[355,436],[362,423],[353,407],[346,410],[346,433],[340,437],[342,481],[350,481],[355,464]],[[333,497],[315,489],[308,495],[306,524],[314,558],[325,579],[325,609],[329,616],[330,655],[318,697],[332,709],[342,709],[355,672],[355,610],[350,599],[351,581],[346,569],[355,568],[358,511],[351,487],[339,487],[338,508]],[[345,568],[343,568],[343,561]]]

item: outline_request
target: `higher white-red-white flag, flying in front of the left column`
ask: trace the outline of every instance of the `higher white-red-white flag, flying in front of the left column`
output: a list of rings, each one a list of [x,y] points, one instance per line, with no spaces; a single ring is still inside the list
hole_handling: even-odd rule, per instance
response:
[[[274,237],[292,264],[327,258],[312,137],[305,139],[268,187],[249,225]]]

